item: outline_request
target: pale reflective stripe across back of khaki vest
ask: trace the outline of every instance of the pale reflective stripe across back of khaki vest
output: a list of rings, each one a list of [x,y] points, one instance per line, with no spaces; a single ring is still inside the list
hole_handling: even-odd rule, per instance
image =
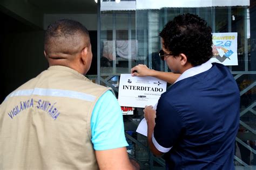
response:
[[[9,94],[4,101],[6,101],[9,97],[30,96],[30,95],[69,97],[69,98],[76,98],[84,101],[90,101],[90,102],[95,101],[95,98],[96,98],[96,96],[93,96],[93,95],[88,95],[86,93],[80,93],[80,92],[71,91],[71,90],[35,88],[35,89],[14,91],[11,94]]]

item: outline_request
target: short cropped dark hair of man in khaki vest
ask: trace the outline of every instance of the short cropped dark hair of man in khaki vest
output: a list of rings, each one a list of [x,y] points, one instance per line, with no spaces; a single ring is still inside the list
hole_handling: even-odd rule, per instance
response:
[[[51,53],[76,53],[83,38],[90,44],[89,32],[81,23],[71,19],[60,19],[48,26],[44,37],[44,50]]]

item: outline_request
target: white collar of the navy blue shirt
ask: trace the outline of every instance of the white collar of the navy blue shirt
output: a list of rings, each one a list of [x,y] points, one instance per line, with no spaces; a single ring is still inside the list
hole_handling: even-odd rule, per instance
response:
[[[203,73],[203,72],[206,72],[208,69],[210,69],[212,67],[212,63],[210,60],[208,60],[207,62],[199,65],[199,66],[196,66],[196,67],[192,67],[190,69],[187,69],[185,72],[183,72],[179,78],[174,82],[178,82],[180,80],[183,80],[183,79],[186,79],[187,77],[192,77],[194,75],[197,75],[197,74],[200,74],[200,73]],[[173,83],[173,84],[174,84]]]

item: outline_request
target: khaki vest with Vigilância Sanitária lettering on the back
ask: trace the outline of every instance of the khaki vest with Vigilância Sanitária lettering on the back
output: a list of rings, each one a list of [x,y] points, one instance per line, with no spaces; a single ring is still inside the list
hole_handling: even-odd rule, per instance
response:
[[[91,113],[106,87],[52,66],[0,106],[0,169],[98,169]]]

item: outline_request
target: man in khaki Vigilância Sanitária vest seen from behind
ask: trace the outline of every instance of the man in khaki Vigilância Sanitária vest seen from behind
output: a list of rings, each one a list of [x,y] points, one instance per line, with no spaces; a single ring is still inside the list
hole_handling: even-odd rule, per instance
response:
[[[0,169],[133,169],[116,98],[84,76],[92,60],[86,28],[51,24],[44,54],[50,67],[0,106]]]

